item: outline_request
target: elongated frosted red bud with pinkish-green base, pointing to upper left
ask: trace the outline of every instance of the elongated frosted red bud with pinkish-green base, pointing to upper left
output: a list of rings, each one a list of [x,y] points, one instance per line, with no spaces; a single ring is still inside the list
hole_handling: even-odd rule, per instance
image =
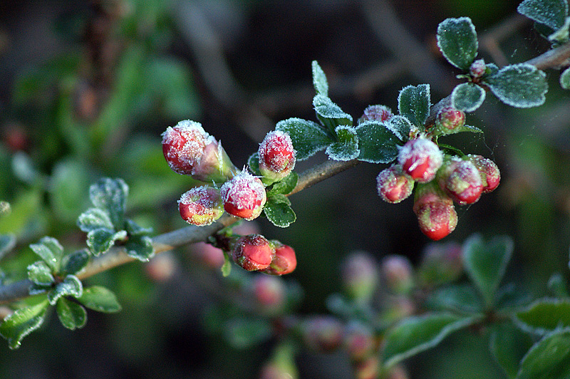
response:
[[[172,170],[202,182],[223,183],[237,171],[222,144],[195,121],[183,120],[166,128],[162,152]]]

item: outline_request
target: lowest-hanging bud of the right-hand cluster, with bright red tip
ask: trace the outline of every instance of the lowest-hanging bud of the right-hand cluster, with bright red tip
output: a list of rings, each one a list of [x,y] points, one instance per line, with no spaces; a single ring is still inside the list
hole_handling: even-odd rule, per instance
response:
[[[457,212],[452,199],[432,183],[418,187],[413,211],[418,217],[420,230],[434,241],[446,237],[457,226]]]

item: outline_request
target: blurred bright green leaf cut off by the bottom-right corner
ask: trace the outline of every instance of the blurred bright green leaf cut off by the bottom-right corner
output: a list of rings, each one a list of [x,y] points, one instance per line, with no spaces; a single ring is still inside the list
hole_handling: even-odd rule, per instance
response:
[[[521,361],[517,379],[570,378],[570,329],[545,336]]]

